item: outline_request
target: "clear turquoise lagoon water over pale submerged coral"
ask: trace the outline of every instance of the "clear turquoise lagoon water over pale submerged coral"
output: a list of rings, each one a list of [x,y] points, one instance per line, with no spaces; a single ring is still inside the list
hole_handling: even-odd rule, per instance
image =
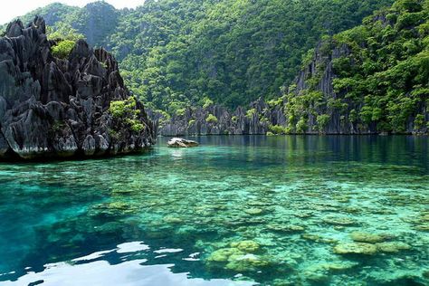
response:
[[[429,284],[428,138],[197,139],[0,164],[0,285]]]

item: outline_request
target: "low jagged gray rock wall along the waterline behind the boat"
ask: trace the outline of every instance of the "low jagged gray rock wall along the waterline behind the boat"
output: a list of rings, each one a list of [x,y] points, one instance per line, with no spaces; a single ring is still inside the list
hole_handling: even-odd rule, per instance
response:
[[[218,105],[207,108],[187,108],[183,115],[176,115],[163,122],[159,114],[152,115],[162,136],[185,135],[243,135],[266,134],[270,125],[286,122],[280,107],[270,107],[264,100],[252,102],[248,110],[239,107],[234,112]]]

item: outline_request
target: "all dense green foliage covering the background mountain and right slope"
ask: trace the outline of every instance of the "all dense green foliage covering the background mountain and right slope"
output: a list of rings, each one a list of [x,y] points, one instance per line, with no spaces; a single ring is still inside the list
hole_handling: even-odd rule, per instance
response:
[[[354,129],[425,129],[428,1],[398,0],[386,8],[392,3],[148,0],[131,10],[97,2],[84,8],[48,5],[36,13],[52,27],[50,39],[65,40],[52,47],[54,55],[66,57],[82,37],[107,46],[134,95],[170,115],[183,114],[189,105],[234,108],[262,97],[272,107],[285,102],[288,125],[271,126],[273,134],[324,132],[334,118]],[[325,60],[306,79],[308,88],[294,92],[290,84],[313,60],[311,48],[320,39],[319,58]],[[348,52],[330,62],[332,51],[345,46]],[[330,63],[334,96],[319,91]],[[277,99],[288,85],[290,92]],[[255,112],[247,110],[246,117]]]

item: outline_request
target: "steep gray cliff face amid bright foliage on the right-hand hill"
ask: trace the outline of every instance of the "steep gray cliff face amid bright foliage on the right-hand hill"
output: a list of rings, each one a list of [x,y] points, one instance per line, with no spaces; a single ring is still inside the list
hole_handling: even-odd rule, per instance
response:
[[[389,24],[385,16],[378,15],[374,17],[373,21],[379,21],[383,25]],[[294,90],[290,91],[292,97],[299,98],[309,92],[316,91],[322,95],[321,102],[323,104],[310,106],[305,118],[306,129],[305,133],[317,134],[385,134],[393,133],[392,130],[384,131],[383,123],[379,124],[377,120],[371,122],[364,122],[358,116],[359,110],[365,107],[365,94],[361,94],[360,100],[352,100],[348,96],[347,89],[335,91],[334,80],[338,78],[334,68],[334,62],[338,59],[353,59],[354,55],[347,44],[320,42],[315,49],[314,55],[310,63],[299,73],[295,81]],[[358,66],[353,60],[349,60],[350,66]],[[341,72],[340,68],[339,72]],[[408,97],[412,92],[410,89],[407,94],[403,95]],[[290,98],[291,98],[290,96]],[[423,98],[423,96],[422,96]],[[330,102],[339,102],[332,104]],[[338,106],[339,105],[339,106]],[[404,124],[405,129],[396,133],[401,134],[427,134],[429,132],[429,101],[422,100],[420,104],[413,107],[413,111],[407,117]],[[287,108],[285,113],[290,112]],[[353,114],[355,112],[355,114]],[[421,127],[415,125],[415,114],[423,116],[423,124]],[[319,116],[328,116],[329,120],[323,127],[318,126],[317,118]],[[399,115],[397,115],[399,116]],[[290,125],[291,122],[287,122]]]

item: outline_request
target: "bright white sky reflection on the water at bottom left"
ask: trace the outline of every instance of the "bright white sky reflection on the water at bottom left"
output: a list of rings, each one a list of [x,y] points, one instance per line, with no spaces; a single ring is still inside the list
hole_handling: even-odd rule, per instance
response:
[[[3,281],[2,285],[28,285],[37,283],[52,286],[71,285],[166,285],[166,286],[247,286],[254,285],[246,281],[228,281],[224,279],[190,279],[188,273],[173,273],[174,264],[144,265],[149,252],[148,245],[122,243],[116,249],[91,253],[71,262],[56,262],[44,265],[43,272],[32,272],[17,281]],[[130,256],[140,256],[130,260]]]

